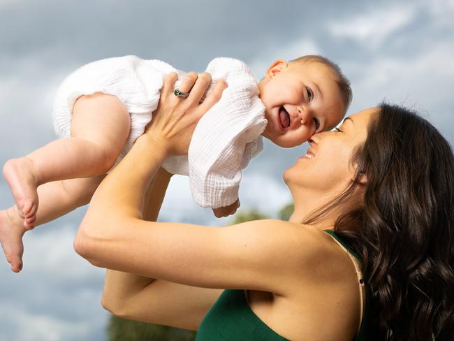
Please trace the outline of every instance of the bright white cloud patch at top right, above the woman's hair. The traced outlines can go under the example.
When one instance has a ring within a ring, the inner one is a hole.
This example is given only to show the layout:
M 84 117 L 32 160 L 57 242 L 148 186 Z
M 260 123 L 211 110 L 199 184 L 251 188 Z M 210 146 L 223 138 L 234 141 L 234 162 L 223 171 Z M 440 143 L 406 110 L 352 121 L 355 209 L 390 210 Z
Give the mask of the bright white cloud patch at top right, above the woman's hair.
M 328 31 L 332 36 L 350 38 L 375 48 L 390 34 L 413 21 L 415 15 L 416 7 L 408 4 L 393 4 L 388 8 L 373 6 L 367 13 L 328 22 Z

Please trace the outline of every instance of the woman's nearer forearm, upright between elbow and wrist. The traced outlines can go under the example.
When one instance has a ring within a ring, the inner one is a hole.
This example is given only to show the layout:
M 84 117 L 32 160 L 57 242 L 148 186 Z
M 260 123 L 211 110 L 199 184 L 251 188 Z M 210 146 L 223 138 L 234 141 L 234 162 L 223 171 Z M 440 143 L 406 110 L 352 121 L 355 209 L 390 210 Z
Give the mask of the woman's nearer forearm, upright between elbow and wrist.
M 96 266 L 112 268 L 112 263 L 100 260 L 101 250 L 114 244 L 120 248 L 129 226 L 143 220 L 145 191 L 166 157 L 166 144 L 159 139 L 143 135 L 136 140 L 91 198 L 75 237 L 78 254 Z

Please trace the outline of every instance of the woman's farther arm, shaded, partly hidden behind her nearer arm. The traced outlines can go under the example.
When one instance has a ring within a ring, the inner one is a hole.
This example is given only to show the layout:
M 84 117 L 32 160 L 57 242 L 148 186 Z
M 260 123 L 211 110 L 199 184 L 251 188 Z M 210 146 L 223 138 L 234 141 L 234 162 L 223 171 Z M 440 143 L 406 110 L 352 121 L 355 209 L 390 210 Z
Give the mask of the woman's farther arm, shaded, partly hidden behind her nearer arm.
M 145 194 L 144 220 L 156 221 L 170 177 L 163 168 L 154 176 Z M 221 292 L 107 270 L 101 303 L 120 317 L 196 331 Z

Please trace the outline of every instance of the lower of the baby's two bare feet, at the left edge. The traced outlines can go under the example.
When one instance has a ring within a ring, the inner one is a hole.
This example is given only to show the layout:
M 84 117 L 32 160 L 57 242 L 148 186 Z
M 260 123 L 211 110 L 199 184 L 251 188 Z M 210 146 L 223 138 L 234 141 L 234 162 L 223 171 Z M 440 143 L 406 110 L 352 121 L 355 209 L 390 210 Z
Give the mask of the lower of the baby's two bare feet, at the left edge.
M 23 219 L 15 211 L 14 206 L 0 211 L 0 243 L 6 260 L 11 264 L 11 270 L 18 273 L 22 270 L 22 254 L 24 254 L 22 236 L 27 228 L 22 224 Z

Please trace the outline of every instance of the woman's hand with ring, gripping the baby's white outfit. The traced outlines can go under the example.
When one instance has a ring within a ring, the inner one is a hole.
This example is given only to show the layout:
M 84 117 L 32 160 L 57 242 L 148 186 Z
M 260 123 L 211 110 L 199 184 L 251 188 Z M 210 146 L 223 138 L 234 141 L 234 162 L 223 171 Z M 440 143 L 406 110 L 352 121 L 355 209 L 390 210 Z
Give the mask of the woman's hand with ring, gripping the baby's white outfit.
M 189 92 L 184 99 L 173 94 L 177 73 L 169 73 L 163 81 L 158 108 L 153 113 L 152 122 L 145 129 L 144 138 L 159 142 L 168 156 L 187 154 L 191 136 L 196 124 L 219 99 L 227 84 L 217 81 L 212 92 L 200 103 L 211 85 L 210 73 L 188 73 L 182 80 L 180 91 Z

